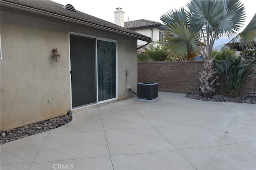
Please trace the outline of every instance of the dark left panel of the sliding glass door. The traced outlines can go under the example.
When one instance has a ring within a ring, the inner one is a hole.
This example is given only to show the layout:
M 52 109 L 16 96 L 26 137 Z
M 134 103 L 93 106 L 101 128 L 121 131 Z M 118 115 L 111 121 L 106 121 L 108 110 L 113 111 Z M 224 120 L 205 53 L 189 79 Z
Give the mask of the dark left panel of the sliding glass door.
M 70 35 L 72 107 L 96 103 L 96 39 Z

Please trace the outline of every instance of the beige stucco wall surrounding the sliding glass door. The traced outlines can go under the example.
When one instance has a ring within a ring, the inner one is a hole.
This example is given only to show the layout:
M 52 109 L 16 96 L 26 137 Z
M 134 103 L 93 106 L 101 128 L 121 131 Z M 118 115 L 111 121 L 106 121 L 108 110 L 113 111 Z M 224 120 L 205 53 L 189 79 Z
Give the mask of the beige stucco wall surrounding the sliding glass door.
M 0 28 L 1 130 L 66 115 L 71 109 L 68 32 L 117 40 L 118 100 L 133 96 L 125 90 L 125 70 L 127 85 L 136 88 L 136 39 L 4 11 Z M 56 47 L 60 62 L 52 57 Z

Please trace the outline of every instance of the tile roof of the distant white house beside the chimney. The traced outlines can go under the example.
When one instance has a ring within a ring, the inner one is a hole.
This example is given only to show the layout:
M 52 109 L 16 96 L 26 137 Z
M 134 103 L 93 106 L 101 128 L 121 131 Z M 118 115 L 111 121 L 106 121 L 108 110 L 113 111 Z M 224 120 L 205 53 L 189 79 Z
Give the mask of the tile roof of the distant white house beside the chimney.
M 147 28 L 152 26 L 160 26 L 160 22 L 150 21 L 150 20 L 135 20 L 124 22 L 124 28 L 128 28 L 130 30 L 138 29 L 138 28 Z

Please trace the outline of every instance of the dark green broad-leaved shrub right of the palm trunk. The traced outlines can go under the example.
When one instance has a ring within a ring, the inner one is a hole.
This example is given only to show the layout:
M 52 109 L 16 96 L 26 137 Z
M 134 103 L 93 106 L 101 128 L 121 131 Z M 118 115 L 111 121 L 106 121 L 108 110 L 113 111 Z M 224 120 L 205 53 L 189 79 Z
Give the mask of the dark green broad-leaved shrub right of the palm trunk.
M 220 60 L 214 60 L 214 67 L 218 75 L 220 75 L 225 84 L 225 92 L 229 97 L 237 97 L 238 91 L 242 85 L 244 79 L 250 75 L 253 75 L 254 70 L 251 67 L 256 65 L 256 60 L 248 60 L 244 62 L 241 56 L 238 58 L 228 55 L 226 60 L 220 58 Z

